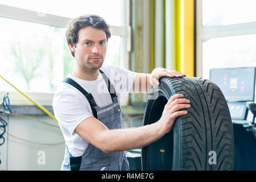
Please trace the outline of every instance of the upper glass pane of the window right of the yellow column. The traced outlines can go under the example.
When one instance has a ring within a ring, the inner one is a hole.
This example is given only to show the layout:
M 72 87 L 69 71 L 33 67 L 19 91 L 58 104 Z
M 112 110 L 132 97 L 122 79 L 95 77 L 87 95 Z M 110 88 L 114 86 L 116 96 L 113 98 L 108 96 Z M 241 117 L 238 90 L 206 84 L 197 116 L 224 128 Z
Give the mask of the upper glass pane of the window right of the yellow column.
M 202 0 L 202 26 L 256 21 L 255 0 Z

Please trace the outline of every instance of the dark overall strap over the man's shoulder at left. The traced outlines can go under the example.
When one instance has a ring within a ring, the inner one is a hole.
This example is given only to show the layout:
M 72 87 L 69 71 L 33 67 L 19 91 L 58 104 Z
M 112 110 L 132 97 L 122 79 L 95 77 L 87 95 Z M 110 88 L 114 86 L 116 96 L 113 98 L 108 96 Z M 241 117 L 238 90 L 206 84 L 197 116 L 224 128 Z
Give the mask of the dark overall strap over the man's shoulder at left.
M 96 102 L 94 100 L 94 97 L 92 97 L 92 94 L 91 93 L 88 93 L 86 92 L 86 90 L 84 90 L 82 88 L 82 86 L 80 86 L 77 82 L 75 82 L 74 80 L 72 80 L 71 78 L 69 77 L 66 77 L 63 82 L 66 82 L 67 84 L 70 84 L 72 86 L 74 86 L 76 89 L 78 89 L 80 92 L 82 92 L 82 94 L 87 98 L 90 106 L 91 106 L 91 109 L 92 109 L 92 113 L 94 114 L 94 117 L 97 118 L 97 111 L 95 109 L 95 106 L 96 105 Z

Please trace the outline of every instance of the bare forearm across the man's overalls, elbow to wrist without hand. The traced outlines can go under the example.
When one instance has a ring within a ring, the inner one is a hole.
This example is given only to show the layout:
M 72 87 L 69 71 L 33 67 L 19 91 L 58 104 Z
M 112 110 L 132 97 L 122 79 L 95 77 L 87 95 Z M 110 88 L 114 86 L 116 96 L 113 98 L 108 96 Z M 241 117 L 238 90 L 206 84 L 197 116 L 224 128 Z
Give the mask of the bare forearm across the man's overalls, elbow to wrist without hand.
M 128 129 L 108 130 L 101 133 L 104 152 L 125 151 L 147 146 L 162 137 L 158 123 Z

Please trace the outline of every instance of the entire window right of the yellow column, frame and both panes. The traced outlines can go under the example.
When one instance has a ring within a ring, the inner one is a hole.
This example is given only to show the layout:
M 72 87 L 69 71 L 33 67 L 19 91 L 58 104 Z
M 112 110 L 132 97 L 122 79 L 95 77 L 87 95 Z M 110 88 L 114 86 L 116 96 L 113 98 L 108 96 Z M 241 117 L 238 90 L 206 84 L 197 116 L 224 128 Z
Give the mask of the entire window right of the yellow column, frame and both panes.
M 197 76 L 211 68 L 256 67 L 255 0 L 197 3 Z

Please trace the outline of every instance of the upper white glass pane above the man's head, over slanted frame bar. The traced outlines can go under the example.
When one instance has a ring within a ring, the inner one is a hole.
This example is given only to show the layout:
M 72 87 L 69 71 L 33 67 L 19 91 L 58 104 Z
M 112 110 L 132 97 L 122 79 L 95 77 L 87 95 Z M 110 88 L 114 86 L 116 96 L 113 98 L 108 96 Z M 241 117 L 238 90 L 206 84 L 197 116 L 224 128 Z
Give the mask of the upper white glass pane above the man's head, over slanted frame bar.
M 67 18 L 75 18 L 83 14 L 97 14 L 113 26 L 121 26 L 120 0 L 0 0 L 0 4 Z

